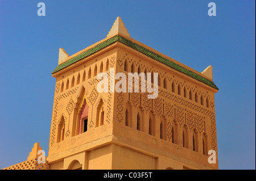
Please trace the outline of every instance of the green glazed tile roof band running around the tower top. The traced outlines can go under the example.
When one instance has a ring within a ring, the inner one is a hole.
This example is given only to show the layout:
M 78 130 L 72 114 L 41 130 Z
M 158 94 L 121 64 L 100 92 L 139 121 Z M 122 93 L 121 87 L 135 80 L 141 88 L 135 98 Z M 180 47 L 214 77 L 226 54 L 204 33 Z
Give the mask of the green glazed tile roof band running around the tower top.
M 77 62 L 79 60 L 81 60 L 82 58 L 88 57 L 91 54 L 96 53 L 98 50 L 101 50 L 102 48 L 108 47 L 110 44 L 113 44 L 113 43 L 115 43 L 117 41 L 119 41 L 122 44 L 127 45 L 128 47 L 131 47 L 131 48 L 137 50 L 138 52 L 141 52 L 141 53 L 145 54 L 148 57 L 153 58 L 154 60 L 157 60 L 157 61 L 162 62 L 163 64 L 165 64 L 167 66 L 170 66 L 170 68 L 172 68 L 172 69 L 180 71 L 181 73 L 184 73 L 184 74 L 188 75 L 189 77 L 195 78 L 198 81 L 203 82 L 206 85 L 208 85 L 210 87 L 213 87 L 214 89 L 218 90 L 218 87 L 212 81 L 209 81 L 207 78 L 204 78 L 204 77 L 202 77 L 199 74 L 193 73 L 193 71 L 185 69 L 182 66 L 177 65 L 174 62 L 171 62 L 170 60 L 167 60 L 166 58 L 160 56 L 159 54 L 151 52 L 150 50 L 142 47 L 141 45 L 133 43 L 132 41 L 127 40 L 125 37 L 122 37 L 120 35 L 116 35 L 116 36 L 114 36 L 114 37 L 112 37 L 112 38 L 110 38 L 110 39 L 108 39 L 108 40 L 106 40 L 106 41 L 96 45 L 95 47 L 93 47 L 93 48 L 91 48 L 89 50 L 86 50 L 85 52 L 77 55 L 76 57 L 71 58 L 70 60 L 64 62 L 63 64 L 60 64 L 59 66 L 57 66 L 52 71 L 52 73 L 55 73 L 55 72 L 57 72 L 57 71 L 59 71 L 61 69 L 64 69 L 67 66 L 69 66 L 69 65 L 71 65 L 71 64 L 73 64 L 73 63 L 75 63 L 75 62 Z

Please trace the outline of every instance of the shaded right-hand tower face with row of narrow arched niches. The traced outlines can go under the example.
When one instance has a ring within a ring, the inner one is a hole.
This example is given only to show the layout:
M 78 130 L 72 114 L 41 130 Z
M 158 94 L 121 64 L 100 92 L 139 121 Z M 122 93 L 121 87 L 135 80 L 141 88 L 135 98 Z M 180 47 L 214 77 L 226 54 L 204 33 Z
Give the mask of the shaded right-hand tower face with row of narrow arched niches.
M 115 94 L 113 134 L 122 137 L 117 140 L 155 155 L 179 161 L 186 158 L 195 165 L 218 168 L 217 163 L 208 163 L 208 150 L 217 152 L 215 90 L 123 48 L 118 49 L 117 72 L 125 73 L 126 77 L 128 73 L 141 72 L 159 76 L 156 99 L 148 99 L 147 89 L 141 92 L 142 78 L 139 78 L 139 92 Z M 146 86 L 147 81 L 146 78 Z M 134 83 L 135 79 L 133 90 Z

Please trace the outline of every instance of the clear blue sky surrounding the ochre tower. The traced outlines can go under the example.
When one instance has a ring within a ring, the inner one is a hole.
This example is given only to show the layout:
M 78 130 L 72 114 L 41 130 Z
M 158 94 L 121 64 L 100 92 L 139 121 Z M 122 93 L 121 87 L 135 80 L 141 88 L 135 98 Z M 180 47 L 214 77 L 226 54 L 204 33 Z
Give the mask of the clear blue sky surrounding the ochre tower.
M 197 71 L 213 66 L 219 168 L 255 169 L 254 0 L 0 0 L 0 169 L 26 161 L 35 142 L 48 153 L 59 48 L 104 39 L 117 16 L 149 47 Z

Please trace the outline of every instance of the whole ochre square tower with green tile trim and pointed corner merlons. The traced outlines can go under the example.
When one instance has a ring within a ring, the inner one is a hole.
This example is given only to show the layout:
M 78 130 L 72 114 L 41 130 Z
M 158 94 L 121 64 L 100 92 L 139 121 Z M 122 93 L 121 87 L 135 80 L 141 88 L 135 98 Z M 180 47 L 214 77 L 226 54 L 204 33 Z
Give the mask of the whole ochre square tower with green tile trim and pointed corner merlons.
M 112 91 L 117 73 L 158 73 L 157 98 Z M 72 56 L 60 48 L 52 76 L 50 169 L 218 169 L 208 163 L 208 150 L 217 153 L 212 66 L 200 73 L 147 47 L 118 17 L 104 40 Z

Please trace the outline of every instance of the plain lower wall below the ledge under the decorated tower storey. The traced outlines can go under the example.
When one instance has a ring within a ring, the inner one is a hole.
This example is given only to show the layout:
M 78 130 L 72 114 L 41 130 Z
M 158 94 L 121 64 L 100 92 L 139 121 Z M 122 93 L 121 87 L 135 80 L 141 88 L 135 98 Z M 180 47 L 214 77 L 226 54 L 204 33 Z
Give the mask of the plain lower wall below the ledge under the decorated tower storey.
M 196 169 L 184 166 L 165 157 L 156 157 L 116 144 L 82 151 L 59 161 L 49 163 L 51 170 L 183 170 Z

